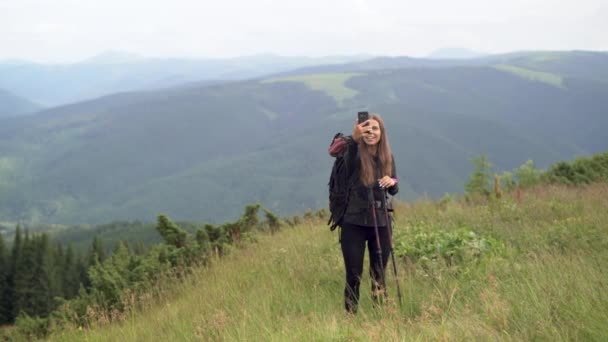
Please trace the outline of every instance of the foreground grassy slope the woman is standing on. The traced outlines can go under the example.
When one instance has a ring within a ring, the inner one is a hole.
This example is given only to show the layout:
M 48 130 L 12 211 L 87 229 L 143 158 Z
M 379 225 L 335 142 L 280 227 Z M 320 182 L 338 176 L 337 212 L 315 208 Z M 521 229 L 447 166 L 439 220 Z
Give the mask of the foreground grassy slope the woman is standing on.
M 432 275 L 400 264 L 405 305 L 342 310 L 337 235 L 305 223 L 175 283 L 174 295 L 121 322 L 55 340 L 605 340 L 608 329 L 608 185 L 538 188 L 469 206 L 419 202 L 399 208 L 397 231 L 466 227 L 504 249 L 459 271 Z M 364 275 L 364 284 L 368 284 Z M 102 319 L 103 321 L 103 319 Z

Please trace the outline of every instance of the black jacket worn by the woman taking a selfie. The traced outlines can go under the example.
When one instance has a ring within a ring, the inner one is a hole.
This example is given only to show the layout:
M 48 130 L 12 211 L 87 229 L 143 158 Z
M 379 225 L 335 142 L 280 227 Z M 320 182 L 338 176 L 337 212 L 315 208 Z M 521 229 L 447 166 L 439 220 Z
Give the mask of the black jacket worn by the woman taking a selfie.
M 356 224 L 359 226 L 373 227 L 374 219 L 369 201 L 369 188 L 366 187 L 361 181 L 361 158 L 359 156 L 358 145 L 352 139 L 349 140 L 349 144 L 347 146 L 345 161 L 348 163 L 349 179 L 351 180 L 352 186 L 350 188 L 348 206 L 346 208 L 346 213 L 344 214 L 343 222 Z M 376 165 L 377 164 L 378 163 L 376 163 Z M 376 169 L 376 174 L 376 178 L 385 176 L 380 174 L 380 170 L 378 170 L 378 168 Z M 394 157 L 392 175 L 390 176 L 397 178 Z M 394 186 L 386 189 L 386 192 L 388 197 L 386 201 L 388 204 L 388 209 L 392 210 L 392 196 L 399 192 L 399 185 L 395 184 Z M 384 207 L 381 206 L 384 192 L 376 184 L 374 186 L 373 193 L 376 201 L 376 219 L 378 226 L 386 226 L 386 215 L 384 212 Z

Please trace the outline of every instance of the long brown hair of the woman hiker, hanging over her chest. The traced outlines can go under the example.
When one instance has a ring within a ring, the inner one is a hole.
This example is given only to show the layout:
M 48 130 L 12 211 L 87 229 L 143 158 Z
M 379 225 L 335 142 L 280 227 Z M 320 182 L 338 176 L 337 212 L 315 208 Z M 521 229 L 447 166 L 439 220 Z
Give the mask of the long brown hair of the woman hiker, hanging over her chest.
M 378 142 L 378 149 L 376 150 L 376 155 L 380 162 L 378 169 L 382 173 L 380 176 L 384 177 L 388 175 L 393 177 L 393 154 L 391 153 L 391 146 L 388 143 L 388 135 L 384 129 L 384 120 L 382 120 L 378 114 L 371 114 L 369 118 L 370 120 L 378 121 L 378 124 L 380 125 L 381 135 L 380 141 Z M 359 156 L 361 157 L 361 182 L 363 182 L 365 186 L 372 186 L 377 181 L 374 172 L 374 155 L 369 151 L 368 146 L 363 139 L 359 140 L 358 144 Z

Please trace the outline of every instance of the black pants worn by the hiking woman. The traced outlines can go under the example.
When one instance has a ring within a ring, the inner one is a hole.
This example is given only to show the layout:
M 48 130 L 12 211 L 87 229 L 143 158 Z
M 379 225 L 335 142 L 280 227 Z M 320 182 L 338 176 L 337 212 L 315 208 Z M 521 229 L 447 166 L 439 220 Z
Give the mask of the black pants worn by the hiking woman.
M 359 303 L 359 285 L 363 274 L 365 244 L 369 250 L 369 270 L 372 279 L 372 299 L 375 303 L 386 296 L 386 284 L 383 275 L 390 255 L 390 239 L 386 227 L 378 227 L 382 249 L 382 267 L 378 258 L 376 234 L 373 227 L 363 227 L 343 223 L 340 245 L 346 269 L 346 287 L 344 288 L 344 307 L 346 311 L 357 312 Z

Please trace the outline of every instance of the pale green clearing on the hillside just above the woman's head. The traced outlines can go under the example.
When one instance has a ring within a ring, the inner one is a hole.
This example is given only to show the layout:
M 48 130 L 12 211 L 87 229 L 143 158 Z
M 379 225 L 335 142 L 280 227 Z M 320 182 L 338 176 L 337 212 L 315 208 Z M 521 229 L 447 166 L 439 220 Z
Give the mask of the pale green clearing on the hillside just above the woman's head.
M 343 101 L 354 97 L 358 91 L 348 88 L 344 85 L 348 79 L 357 76 L 356 73 L 341 73 L 341 74 L 313 74 L 305 76 L 291 76 L 282 78 L 273 78 L 263 81 L 263 83 L 273 82 L 302 82 L 312 90 L 318 90 L 333 97 L 339 105 Z

